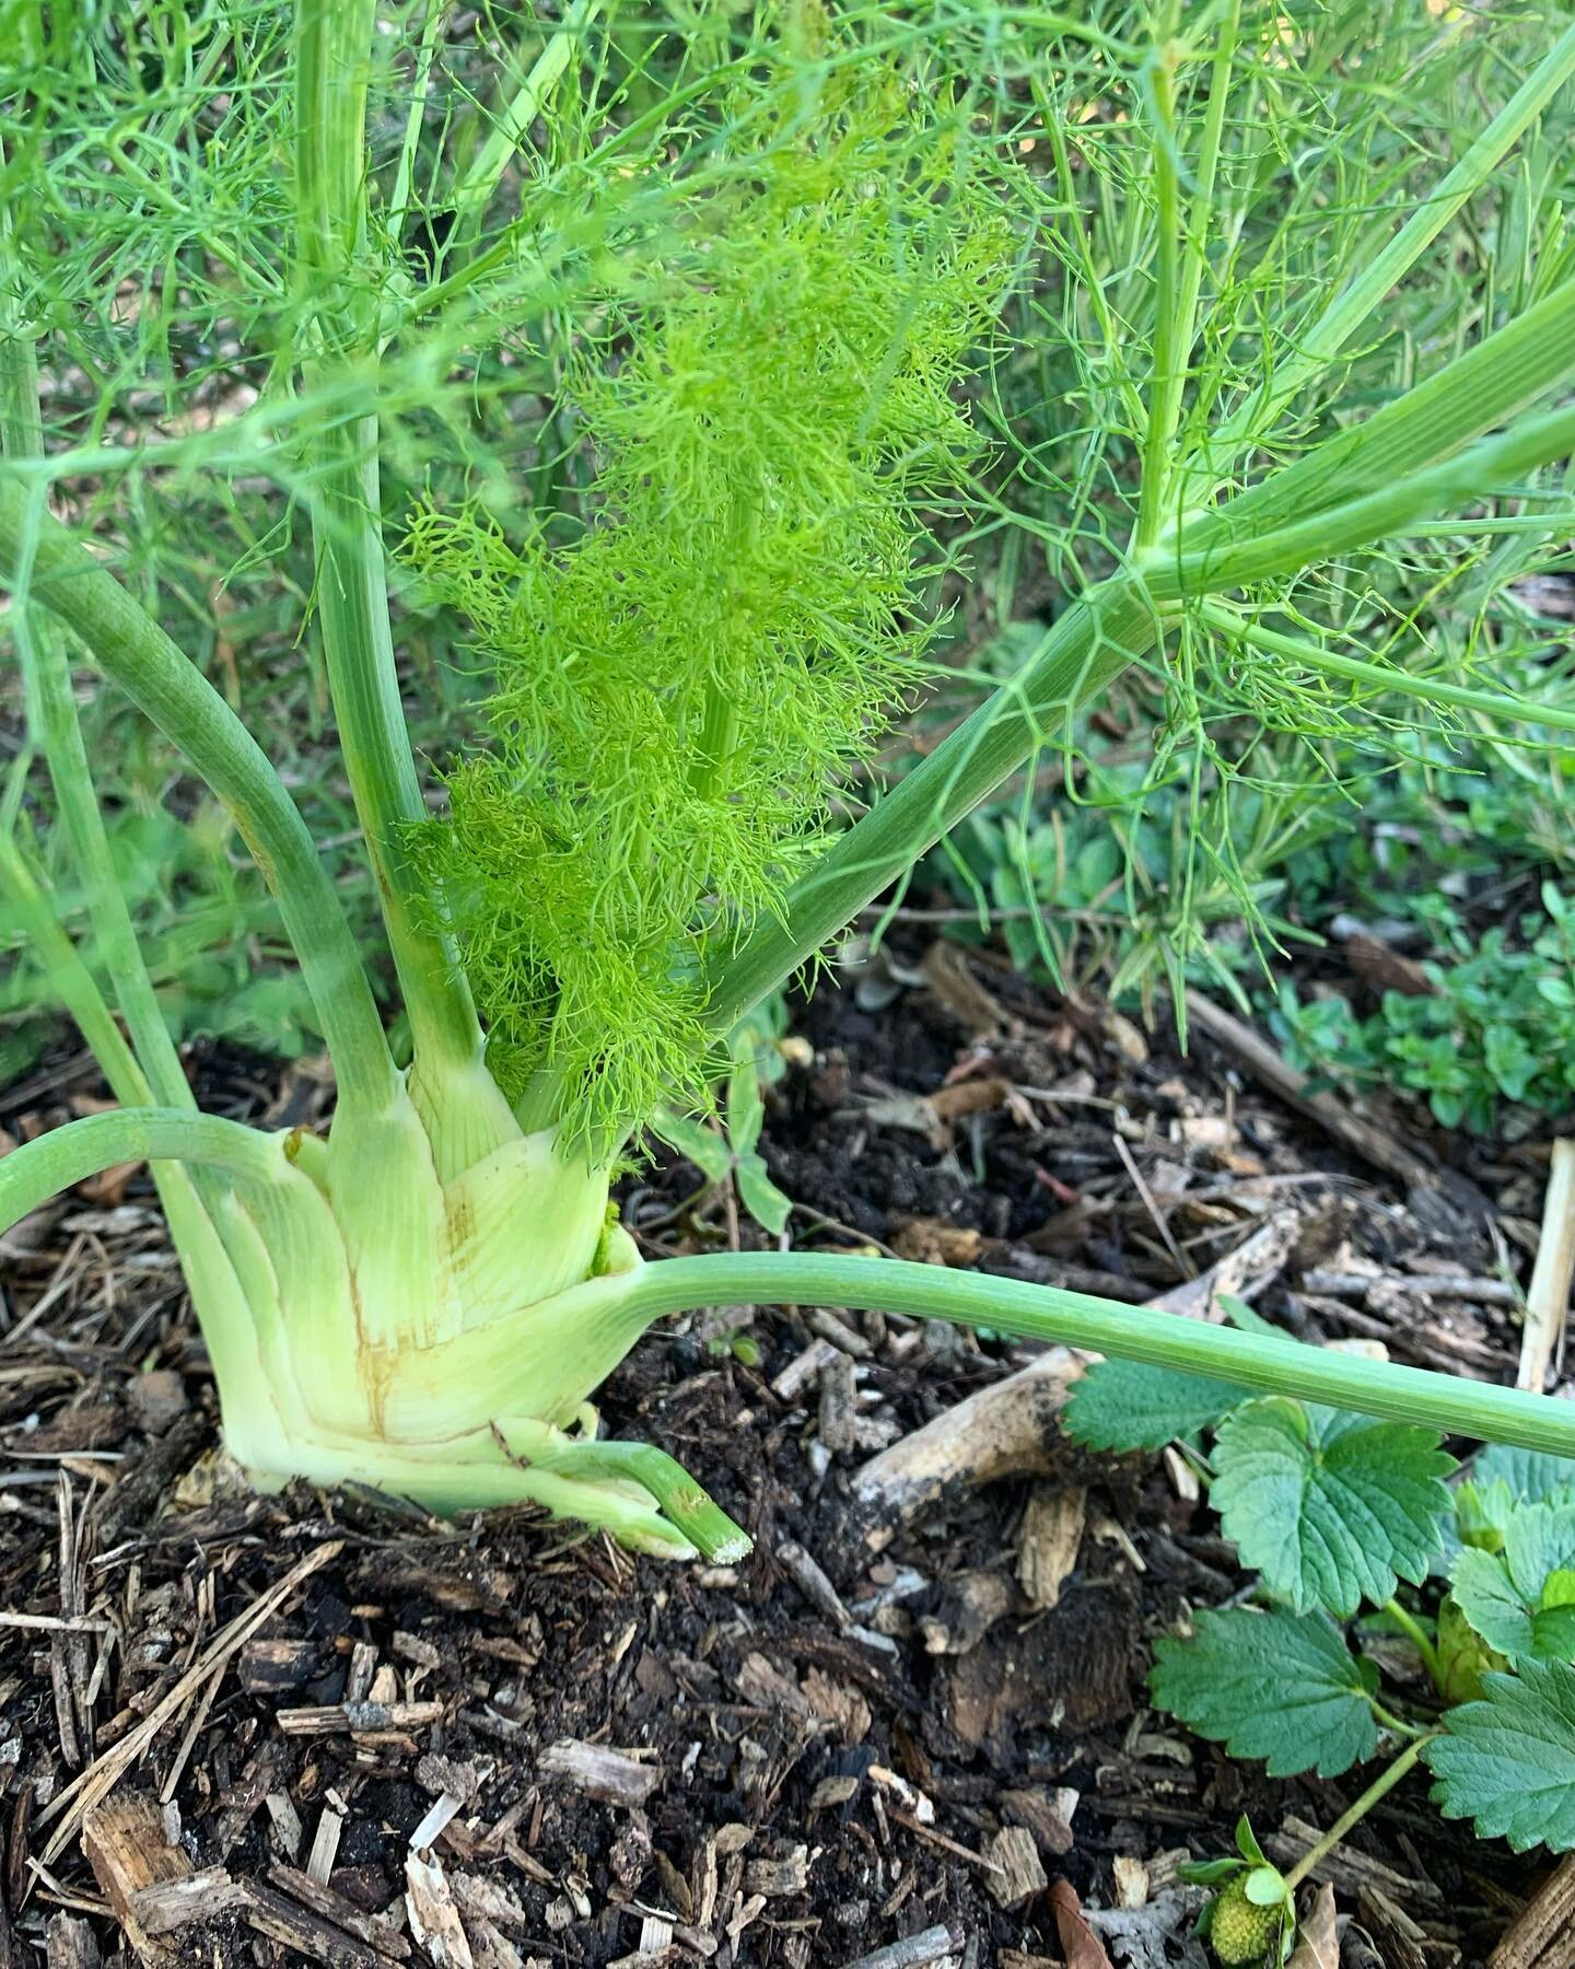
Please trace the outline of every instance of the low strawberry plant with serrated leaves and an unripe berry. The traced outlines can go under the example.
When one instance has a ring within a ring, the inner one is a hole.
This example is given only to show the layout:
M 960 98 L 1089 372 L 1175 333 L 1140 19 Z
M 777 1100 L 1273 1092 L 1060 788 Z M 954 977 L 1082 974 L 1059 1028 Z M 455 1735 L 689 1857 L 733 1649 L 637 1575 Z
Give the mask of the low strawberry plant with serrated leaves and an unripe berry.
M 1065 1422 L 1093 1449 L 1177 1443 L 1256 1573 L 1250 1605 L 1156 1642 L 1156 1707 L 1272 1778 L 1382 1760 L 1288 1873 L 1246 1821 L 1236 1855 L 1191 1871 L 1219 1888 L 1223 1963 L 1290 1953 L 1299 1882 L 1418 1762 L 1445 1817 L 1575 1847 L 1575 1461 L 1488 1447 L 1461 1471 L 1437 1429 L 1124 1361 L 1087 1370 Z M 1404 1680 L 1378 1662 L 1396 1640 Z

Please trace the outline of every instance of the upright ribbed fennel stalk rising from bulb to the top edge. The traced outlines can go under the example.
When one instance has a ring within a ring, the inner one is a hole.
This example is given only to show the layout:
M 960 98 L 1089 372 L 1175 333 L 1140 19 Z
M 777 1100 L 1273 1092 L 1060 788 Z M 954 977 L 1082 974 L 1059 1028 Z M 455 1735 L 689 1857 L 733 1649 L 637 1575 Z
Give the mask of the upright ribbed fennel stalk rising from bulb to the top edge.
M 366 240 L 374 20 L 372 0 L 299 0 L 295 10 L 295 272 L 307 309 L 307 388 L 331 384 L 376 349 L 378 282 Z M 307 469 L 339 744 L 410 1014 L 415 1077 L 433 1087 L 471 1069 L 482 1040 L 439 904 L 406 841 L 427 809 L 394 662 L 376 417 L 325 417 L 307 439 Z

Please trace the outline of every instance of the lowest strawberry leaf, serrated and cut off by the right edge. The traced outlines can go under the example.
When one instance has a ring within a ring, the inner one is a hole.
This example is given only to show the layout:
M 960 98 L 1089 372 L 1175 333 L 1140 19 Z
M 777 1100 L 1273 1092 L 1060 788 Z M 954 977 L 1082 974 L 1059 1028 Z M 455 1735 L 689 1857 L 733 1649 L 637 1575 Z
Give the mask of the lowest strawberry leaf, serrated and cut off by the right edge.
M 1423 1756 L 1447 1819 L 1473 1819 L 1516 1853 L 1575 1845 L 1575 1668 L 1522 1662 L 1518 1676 L 1484 1676 L 1482 1699 L 1447 1711 L 1445 1731 Z

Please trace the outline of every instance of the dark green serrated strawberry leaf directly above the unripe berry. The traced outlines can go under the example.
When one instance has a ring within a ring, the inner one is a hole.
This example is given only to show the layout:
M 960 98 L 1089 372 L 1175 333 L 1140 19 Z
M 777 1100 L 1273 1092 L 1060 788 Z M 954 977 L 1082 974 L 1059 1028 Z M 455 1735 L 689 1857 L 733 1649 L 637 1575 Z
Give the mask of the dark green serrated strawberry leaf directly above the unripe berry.
M 1376 1682 L 1323 1615 L 1250 1607 L 1201 1613 L 1191 1640 L 1162 1636 L 1148 1678 L 1162 1709 L 1230 1756 L 1264 1758 L 1270 1778 L 1335 1778 L 1372 1756 Z

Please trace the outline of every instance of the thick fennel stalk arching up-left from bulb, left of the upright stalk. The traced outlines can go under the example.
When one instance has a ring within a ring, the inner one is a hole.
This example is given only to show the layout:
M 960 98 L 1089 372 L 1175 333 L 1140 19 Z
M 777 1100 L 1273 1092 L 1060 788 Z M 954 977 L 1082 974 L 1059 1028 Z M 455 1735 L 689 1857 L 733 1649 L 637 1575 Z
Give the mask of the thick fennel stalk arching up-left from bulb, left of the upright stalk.
M 49 516 L 45 478 L 0 478 L 0 569 L 32 569 L 32 597 L 185 754 L 232 813 L 274 890 L 323 1038 L 341 1107 L 386 1107 L 398 1073 L 350 925 L 307 825 L 240 719 L 120 583 Z

